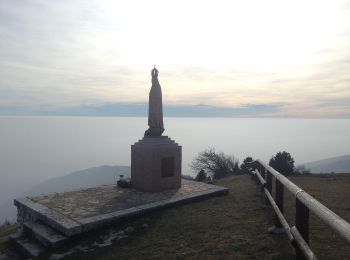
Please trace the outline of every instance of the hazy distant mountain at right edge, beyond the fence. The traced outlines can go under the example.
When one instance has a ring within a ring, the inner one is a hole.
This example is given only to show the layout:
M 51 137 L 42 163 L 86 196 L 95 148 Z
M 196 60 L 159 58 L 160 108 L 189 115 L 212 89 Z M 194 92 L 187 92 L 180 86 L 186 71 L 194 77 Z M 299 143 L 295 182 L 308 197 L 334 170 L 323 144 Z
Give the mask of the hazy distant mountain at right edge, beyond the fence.
M 338 156 L 303 164 L 311 173 L 350 173 L 350 155 Z

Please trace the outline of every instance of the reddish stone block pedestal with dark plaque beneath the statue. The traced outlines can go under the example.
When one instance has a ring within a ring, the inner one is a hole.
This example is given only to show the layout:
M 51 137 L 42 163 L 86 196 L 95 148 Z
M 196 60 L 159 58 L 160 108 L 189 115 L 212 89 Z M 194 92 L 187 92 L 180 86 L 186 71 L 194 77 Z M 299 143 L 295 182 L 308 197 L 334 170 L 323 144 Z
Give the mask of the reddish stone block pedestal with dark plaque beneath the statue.
M 157 192 L 181 187 L 182 148 L 167 136 L 144 137 L 131 146 L 131 184 Z

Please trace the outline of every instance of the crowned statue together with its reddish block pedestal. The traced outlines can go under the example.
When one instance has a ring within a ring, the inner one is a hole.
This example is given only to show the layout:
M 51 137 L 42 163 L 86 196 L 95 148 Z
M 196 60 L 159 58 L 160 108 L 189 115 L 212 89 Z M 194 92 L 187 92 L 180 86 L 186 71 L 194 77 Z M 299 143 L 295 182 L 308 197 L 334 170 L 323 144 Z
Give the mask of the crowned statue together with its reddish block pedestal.
M 148 105 L 149 128 L 144 137 L 131 146 L 131 184 L 135 189 L 148 192 L 181 187 L 182 148 L 168 136 L 162 136 L 163 104 L 158 74 L 154 67 Z

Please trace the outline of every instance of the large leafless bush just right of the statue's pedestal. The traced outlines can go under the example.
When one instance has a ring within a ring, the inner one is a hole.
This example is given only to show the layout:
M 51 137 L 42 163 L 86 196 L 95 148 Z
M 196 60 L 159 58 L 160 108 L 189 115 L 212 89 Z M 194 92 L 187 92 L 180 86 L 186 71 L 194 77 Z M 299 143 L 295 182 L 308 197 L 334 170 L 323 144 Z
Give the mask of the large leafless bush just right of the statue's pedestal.
M 239 174 L 238 161 L 231 155 L 216 153 L 214 148 L 200 152 L 190 167 L 194 171 L 206 171 L 212 179 Z

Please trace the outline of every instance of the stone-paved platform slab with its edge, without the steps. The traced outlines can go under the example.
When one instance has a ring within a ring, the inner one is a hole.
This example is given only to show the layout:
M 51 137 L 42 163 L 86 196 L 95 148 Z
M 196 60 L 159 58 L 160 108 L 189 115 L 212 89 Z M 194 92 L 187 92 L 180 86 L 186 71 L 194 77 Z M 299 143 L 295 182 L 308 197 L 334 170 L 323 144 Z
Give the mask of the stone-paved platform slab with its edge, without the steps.
M 228 189 L 182 180 L 180 189 L 157 193 L 119 188 L 115 184 L 15 200 L 18 222 L 41 222 L 59 234 L 72 237 L 131 216 L 227 194 Z

